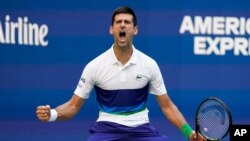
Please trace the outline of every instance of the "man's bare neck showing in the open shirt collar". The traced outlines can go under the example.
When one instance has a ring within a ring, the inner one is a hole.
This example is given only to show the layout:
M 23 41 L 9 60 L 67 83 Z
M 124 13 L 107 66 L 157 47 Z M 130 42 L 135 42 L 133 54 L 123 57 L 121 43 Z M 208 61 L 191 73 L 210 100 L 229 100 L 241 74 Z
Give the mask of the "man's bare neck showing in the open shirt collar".
M 132 45 L 124 47 L 114 45 L 113 49 L 117 60 L 119 60 L 123 65 L 128 62 L 133 53 Z

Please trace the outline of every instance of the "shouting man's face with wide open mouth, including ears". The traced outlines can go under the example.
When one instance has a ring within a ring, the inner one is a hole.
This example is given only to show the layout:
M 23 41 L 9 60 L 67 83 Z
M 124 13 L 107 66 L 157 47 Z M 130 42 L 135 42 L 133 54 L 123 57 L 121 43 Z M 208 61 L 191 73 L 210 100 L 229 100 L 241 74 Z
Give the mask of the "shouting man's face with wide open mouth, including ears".
M 131 46 L 137 31 L 137 27 L 133 24 L 133 16 L 130 14 L 117 14 L 110 27 L 110 34 L 114 36 L 115 45 L 119 47 Z

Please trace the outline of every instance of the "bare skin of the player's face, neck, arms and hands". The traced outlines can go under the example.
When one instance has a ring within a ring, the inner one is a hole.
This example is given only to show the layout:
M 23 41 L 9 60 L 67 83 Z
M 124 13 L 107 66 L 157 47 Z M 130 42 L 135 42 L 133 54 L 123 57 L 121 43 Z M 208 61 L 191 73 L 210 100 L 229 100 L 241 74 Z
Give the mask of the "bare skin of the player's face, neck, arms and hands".
M 125 65 L 130 59 L 133 48 L 133 37 L 138 33 L 138 27 L 133 24 L 133 16 L 130 14 L 117 14 L 109 32 L 114 37 L 114 52 L 117 59 Z M 121 37 L 120 33 L 125 32 Z M 156 100 L 166 118 L 169 119 L 177 128 L 181 128 L 186 122 L 185 118 L 178 110 L 176 105 L 171 101 L 167 94 L 155 96 Z M 66 103 L 57 106 L 55 109 L 58 113 L 57 120 L 67 120 L 76 115 L 84 105 L 85 99 L 73 94 L 71 99 Z M 38 106 L 36 115 L 39 120 L 47 122 L 50 118 L 50 106 Z M 193 131 L 189 137 L 190 141 L 204 141 L 205 139 Z

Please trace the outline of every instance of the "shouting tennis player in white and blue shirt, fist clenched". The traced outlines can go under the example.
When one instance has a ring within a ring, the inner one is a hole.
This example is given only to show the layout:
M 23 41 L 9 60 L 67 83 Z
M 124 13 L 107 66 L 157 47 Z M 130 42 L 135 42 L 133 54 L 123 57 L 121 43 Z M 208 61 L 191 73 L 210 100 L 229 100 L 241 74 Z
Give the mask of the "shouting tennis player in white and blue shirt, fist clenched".
M 138 33 L 134 11 L 129 7 L 115 9 L 109 32 L 114 44 L 86 65 L 71 99 L 55 109 L 38 106 L 38 119 L 72 118 L 95 89 L 100 112 L 89 129 L 88 141 L 167 141 L 168 137 L 149 122 L 147 97 L 151 93 L 163 114 L 189 140 L 195 140 L 196 133 L 167 94 L 157 63 L 133 45 Z M 201 135 L 198 139 L 204 140 Z

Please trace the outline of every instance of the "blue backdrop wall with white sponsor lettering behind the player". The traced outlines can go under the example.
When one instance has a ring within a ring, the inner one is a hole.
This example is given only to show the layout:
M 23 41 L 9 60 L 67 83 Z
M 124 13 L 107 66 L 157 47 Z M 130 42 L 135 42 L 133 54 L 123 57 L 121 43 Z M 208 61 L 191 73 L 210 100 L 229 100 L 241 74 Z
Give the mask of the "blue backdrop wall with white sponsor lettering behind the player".
M 113 43 L 111 15 L 122 5 L 137 13 L 135 46 L 158 62 L 192 127 L 196 107 L 209 96 L 227 103 L 234 124 L 250 124 L 247 0 L 1 0 L 1 141 L 86 140 L 98 114 L 95 93 L 67 122 L 39 122 L 36 106 L 55 107 L 72 96 L 84 66 Z M 148 107 L 162 134 L 185 140 L 153 96 Z

